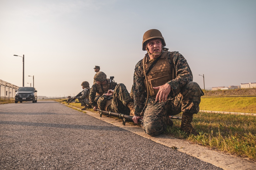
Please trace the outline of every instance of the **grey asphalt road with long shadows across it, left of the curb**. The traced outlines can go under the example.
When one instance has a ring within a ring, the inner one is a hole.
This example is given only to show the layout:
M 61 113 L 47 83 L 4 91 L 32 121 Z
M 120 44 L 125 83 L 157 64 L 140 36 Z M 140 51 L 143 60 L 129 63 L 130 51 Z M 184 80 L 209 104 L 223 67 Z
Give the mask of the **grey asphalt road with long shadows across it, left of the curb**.
M 0 105 L 0 169 L 221 169 L 55 101 Z

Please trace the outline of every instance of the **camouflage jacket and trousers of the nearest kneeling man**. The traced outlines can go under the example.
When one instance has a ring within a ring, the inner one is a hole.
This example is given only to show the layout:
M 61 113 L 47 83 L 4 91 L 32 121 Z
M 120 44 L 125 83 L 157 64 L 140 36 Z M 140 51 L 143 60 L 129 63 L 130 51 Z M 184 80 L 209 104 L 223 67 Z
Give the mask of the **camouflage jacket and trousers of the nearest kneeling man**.
M 146 56 L 147 62 L 149 62 L 148 54 Z M 176 51 L 169 52 L 167 60 L 171 68 L 175 69 L 177 76 L 175 79 L 166 82 L 171 87 L 167 101 L 159 103 L 159 101 L 155 101 L 155 97 L 149 96 L 148 98 L 142 119 L 142 128 L 150 136 L 158 135 L 166 129 L 166 115 L 176 115 L 183 112 L 183 115 L 191 116 L 198 113 L 200 97 L 204 94 L 199 85 L 192 82 L 192 72 L 186 59 L 180 53 Z M 141 62 L 142 60 L 136 64 L 133 77 L 134 114 L 136 116 L 140 116 L 147 98 L 144 85 L 145 76 L 140 68 Z

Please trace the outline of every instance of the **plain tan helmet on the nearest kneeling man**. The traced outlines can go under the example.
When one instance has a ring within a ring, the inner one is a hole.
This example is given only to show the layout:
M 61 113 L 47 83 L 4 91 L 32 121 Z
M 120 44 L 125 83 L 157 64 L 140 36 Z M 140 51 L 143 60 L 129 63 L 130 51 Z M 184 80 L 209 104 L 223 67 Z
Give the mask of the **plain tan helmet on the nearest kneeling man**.
M 142 50 L 146 51 L 146 49 L 144 49 L 144 46 L 146 45 L 146 41 L 153 39 L 153 38 L 160 38 L 163 47 L 166 46 L 165 41 L 164 41 L 164 37 L 162 36 L 161 32 L 159 30 L 156 29 L 152 29 L 152 30 L 148 30 L 144 33 L 143 35 L 143 41 L 142 41 Z

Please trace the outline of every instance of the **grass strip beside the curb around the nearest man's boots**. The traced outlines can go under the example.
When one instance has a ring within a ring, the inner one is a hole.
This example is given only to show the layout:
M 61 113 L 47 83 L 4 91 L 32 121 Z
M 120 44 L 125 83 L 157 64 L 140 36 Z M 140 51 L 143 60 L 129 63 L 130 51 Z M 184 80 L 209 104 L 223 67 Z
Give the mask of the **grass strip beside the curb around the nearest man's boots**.
M 192 122 L 198 136 L 187 136 L 179 130 L 181 121 L 173 121 L 165 134 L 256 161 L 256 116 L 199 112 Z

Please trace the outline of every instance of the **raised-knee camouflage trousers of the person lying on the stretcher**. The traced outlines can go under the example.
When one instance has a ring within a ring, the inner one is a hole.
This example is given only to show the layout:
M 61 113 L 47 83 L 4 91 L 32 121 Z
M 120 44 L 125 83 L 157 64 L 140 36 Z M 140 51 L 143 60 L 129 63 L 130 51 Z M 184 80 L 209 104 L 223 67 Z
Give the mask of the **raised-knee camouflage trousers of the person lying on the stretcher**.
M 116 85 L 111 102 L 112 112 L 130 115 L 130 109 L 127 107 L 127 104 L 130 102 L 132 102 L 132 99 L 125 85 L 122 83 Z

